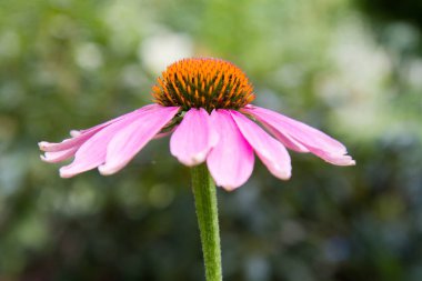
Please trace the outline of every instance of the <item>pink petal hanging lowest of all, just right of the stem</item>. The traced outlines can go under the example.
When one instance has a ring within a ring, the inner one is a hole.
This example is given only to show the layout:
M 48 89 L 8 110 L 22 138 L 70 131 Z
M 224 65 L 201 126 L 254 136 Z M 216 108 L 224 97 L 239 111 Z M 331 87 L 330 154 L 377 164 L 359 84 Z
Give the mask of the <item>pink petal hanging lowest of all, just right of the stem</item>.
M 211 113 L 212 127 L 219 134 L 219 141 L 211 149 L 207 164 L 218 185 L 233 190 L 242 185 L 253 170 L 253 150 L 239 131 L 227 110 Z

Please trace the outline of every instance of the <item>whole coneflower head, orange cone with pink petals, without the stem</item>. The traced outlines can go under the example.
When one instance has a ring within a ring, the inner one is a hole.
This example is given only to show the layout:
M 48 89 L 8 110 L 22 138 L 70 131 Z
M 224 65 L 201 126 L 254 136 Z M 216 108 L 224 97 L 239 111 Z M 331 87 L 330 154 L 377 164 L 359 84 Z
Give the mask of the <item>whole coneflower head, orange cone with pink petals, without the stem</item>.
M 181 163 L 207 162 L 218 185 L 233 190 L 251 175 L 254 154 L 277 178 L 291 177 L 287 148 L 311 152 L 336 165 L 352 165 L 345 147 L 325 133 L 269 109 L 252 106 L 252 84 L 234 64 L 212 58 L 180 60 L 152 88 L 153 104 L 87 130 L 60 143 L 40 142 L 46 162 L 74 157 L 62 178 L 98 168 L 121 170 L 152 139 L 171 134 Z

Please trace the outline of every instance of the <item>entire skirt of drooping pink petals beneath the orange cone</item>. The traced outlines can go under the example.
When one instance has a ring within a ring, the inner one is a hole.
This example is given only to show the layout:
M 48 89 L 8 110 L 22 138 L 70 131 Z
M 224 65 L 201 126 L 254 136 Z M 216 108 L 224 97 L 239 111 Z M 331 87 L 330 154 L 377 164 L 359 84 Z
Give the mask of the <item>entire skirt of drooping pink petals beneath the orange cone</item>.
M 62 178 L 71 178 L 98 168 L 112 174 L 152 139 L 161 136 L 180 112 L 179 107 L 149 104 L 87 130 L 71 131 L 60 143 L 42 141 L 46 162 L 74 160 L 60 169 Z M 251 120 L 254 119 L 257 122 Z M 225 190 L 242 185 L 250 178 L 254 153 L 277 178 L 291 177 L 288 149 L 310 152 L 336 165 L 353 165 L 345 147 L 328 134 L 269 109 L 247 106 L 239 111 L 189 109 L 171 130 L 170 152 L 182 164 L 205 162 L 215 183 Z

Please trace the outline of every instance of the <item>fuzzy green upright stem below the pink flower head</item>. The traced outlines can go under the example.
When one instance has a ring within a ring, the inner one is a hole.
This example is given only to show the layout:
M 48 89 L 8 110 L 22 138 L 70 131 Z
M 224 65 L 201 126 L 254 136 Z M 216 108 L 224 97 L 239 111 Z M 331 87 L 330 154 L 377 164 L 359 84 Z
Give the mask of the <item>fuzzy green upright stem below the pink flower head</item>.
M 193 167 L 191 171 L 207 281 L 221 281 L 220 231 L 215 184 L 205 164 Z

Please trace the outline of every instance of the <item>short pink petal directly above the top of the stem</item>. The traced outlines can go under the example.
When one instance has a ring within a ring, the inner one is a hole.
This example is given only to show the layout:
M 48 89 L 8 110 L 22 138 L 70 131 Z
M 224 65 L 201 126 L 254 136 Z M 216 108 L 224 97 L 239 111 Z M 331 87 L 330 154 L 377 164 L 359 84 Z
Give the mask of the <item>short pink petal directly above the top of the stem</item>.
M 195 165 L 205 161 L 208 152 L 215 145 L 217 132 L 204 109 L 190 109 L 170 140 L 170 151 L 181 163 Z

